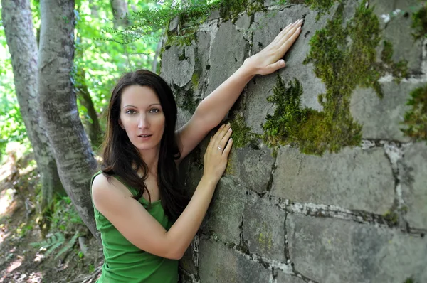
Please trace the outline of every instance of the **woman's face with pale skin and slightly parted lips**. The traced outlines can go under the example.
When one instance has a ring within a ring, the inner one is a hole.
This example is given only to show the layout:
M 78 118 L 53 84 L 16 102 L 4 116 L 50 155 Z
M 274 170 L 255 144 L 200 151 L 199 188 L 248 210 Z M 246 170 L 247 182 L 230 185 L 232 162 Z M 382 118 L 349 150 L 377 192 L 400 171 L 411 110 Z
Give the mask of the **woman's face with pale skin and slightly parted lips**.
M 147 86 L 126 87 L 122 91 L 119 124 L 140 153 L 158 149 L 164 132 L 164 113 L 156 92 Z

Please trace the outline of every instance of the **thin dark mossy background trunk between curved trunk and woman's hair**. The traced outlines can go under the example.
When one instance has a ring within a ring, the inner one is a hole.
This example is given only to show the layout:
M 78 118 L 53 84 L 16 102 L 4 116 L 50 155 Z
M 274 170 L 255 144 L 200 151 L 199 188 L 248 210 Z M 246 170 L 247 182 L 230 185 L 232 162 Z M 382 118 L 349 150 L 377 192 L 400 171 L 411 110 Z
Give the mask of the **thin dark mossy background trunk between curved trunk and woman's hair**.
M 80 100 L 81 105 L 83 105 L 88 112 L 89 119 L 85 119 L 85 128 L 89 135 L 90 144 L 97 148 L 102 142 L 100 121 L 97 117 L 92 97 L 90 97 L 88 85 L 86 85 L 85 70 L 81 68 L 78 69 L 76 74 L 75 89 L 77 91 L 77 97 Z

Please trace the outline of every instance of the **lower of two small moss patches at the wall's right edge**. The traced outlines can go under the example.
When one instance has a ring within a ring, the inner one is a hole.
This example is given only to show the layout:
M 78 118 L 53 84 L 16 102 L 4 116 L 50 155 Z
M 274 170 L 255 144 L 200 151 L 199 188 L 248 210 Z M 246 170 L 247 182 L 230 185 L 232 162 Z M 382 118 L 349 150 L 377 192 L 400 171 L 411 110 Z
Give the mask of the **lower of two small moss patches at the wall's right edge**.
M 413 90 L 406 105 L 411 106 L 411 110 L 405 113 L 407 128 L 402 131 L 415 141 L 427 141 L 427 85 Z

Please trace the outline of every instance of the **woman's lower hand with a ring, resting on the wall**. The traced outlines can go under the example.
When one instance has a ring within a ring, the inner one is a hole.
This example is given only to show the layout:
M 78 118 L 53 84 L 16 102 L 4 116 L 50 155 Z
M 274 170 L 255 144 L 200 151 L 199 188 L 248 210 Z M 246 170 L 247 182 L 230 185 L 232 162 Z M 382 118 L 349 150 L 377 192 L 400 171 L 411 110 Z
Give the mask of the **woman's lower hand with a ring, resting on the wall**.
M 204 155 L 204 177 L 219 181 L 226 170 L 228 154 L 233 146 L 230 123 L 223 124 L 214 137 L 211 137 Z

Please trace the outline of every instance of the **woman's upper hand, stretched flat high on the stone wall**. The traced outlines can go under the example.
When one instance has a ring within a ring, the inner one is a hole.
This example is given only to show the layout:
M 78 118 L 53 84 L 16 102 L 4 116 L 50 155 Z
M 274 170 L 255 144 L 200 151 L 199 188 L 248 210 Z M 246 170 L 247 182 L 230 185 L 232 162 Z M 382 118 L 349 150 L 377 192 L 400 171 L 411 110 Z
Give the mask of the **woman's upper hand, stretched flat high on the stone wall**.
M 282 58 L 300 35 L 302 22 L 300 19 L 290 23 L 267 47 L 246 59 L 243 65 L 253 70 L 253 75 L 268 75 L 285 67 Z

